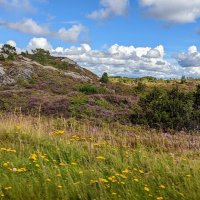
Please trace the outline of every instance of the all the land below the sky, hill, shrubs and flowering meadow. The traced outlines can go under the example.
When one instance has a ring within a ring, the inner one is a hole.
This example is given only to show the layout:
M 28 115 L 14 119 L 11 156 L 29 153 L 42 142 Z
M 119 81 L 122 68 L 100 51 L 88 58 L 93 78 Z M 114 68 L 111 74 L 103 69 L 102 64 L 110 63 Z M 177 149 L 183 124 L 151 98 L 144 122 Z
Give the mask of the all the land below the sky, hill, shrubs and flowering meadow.
M 200 199 L 200 79 L 1 52 L 0 199 Z

